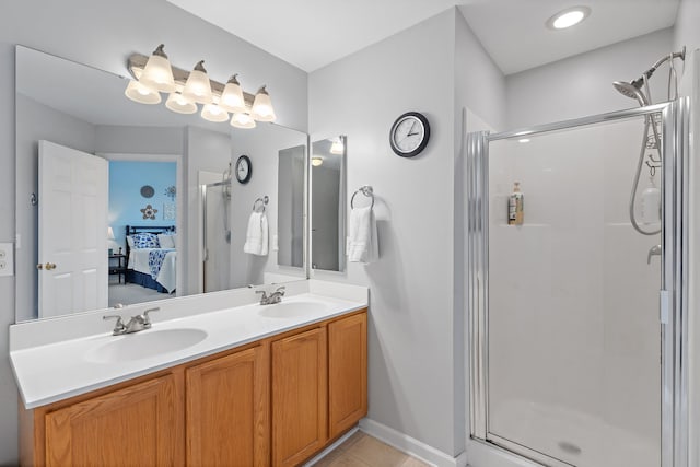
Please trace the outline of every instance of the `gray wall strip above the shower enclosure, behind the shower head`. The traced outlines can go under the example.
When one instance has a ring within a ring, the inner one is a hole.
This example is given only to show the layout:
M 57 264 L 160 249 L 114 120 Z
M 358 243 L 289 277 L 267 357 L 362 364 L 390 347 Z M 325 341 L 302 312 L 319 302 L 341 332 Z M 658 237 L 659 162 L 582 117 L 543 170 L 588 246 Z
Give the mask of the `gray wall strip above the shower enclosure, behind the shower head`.
M 638 106 L 612 81 L 639 78 L 670 51 L 672 39 L 673 31 L 662 30 L 509 75 L 508 129 Z M 650 81 L 654 102 L 666 100 L 666 70 Z

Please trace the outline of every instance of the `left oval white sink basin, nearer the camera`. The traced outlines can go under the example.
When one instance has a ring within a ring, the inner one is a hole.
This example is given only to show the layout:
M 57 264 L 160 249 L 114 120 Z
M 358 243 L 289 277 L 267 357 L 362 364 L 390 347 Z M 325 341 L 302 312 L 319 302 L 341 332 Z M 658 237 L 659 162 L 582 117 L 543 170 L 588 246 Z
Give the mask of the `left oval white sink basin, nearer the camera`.
M 207 332 L 201 329 L 163 329 L 115 336 L 114 340 L 91 349 L 85 359 L 96 363 L 116 363 L 148 359 L 175 352 L 201 342 Z

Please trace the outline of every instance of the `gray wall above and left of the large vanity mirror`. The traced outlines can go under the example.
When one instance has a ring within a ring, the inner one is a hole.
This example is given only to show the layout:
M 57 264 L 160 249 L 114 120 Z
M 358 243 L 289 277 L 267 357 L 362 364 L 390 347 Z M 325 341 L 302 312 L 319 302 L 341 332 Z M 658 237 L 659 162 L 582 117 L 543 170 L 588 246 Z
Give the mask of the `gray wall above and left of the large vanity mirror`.
M 306 129 L 305 72 L 165 0 L 10 2 L 0 15 L 0 102 L 5 103 L 0 112 L 0 241 L 13 241 L 15 232 L 14 45 L 127 74 L 125 63 L 131 52 L 149 54 L 160 43 L 180 68 L 206 59 L 218 81 L 240 72 L 249 92 L 267 83 L 279 121 Z M 7 357 L 14 287 L 14 278 L 0 278 L 0 465 L 14 464 L 18 453 L 16 388 Z

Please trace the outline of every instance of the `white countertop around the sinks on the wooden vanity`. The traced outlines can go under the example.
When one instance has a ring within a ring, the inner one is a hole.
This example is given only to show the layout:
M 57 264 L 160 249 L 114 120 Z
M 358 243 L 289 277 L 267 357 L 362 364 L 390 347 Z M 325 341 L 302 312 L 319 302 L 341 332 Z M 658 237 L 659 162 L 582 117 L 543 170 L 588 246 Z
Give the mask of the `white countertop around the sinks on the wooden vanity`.
M 337 288 L 334 284 L 329 291 Z M 168 311 L 166 305 L 161 305 L 158 313 L 161 320 L 156 322 L 156 315 L 152 315 L 153 327 L 140 332 L 113 336 L 108 329 L 114 323 L 109 322 L 104 323 L 107 329 L 101 334 L 31 347 L 16 345 L 14 350 L 10 349 L 10 360 L 20 394 L 27 409 L 44 406 L 368 306 L 366 289 L 364 299 L 362 293 L 339 299 L 313 293 L 314 289 L 317 288 L 311 287 L 311 292 L 285 296 L 282 301 L 282 305 L 299 303 L 301 307 L 313 304 L 307 306 L 310 312 L 301 316 L 293 316 L 294 313 L 288 316 L 284 307 L 275 310 L 279 305 L 247 304 L 164 319 Z M 266 316 L 270 312 L 276 316 Z M 101 315 L 91 318 L 102 320 Z M 116 340 L 138 337 L 145 342 L 149 334 L 172 329 L 198 329 L 206 332 L 206 337 L 192 346 L 153 357 L 109 362 L 94 358 L 96 351 Z M 26 329 L 22 332 L 28 334 Z

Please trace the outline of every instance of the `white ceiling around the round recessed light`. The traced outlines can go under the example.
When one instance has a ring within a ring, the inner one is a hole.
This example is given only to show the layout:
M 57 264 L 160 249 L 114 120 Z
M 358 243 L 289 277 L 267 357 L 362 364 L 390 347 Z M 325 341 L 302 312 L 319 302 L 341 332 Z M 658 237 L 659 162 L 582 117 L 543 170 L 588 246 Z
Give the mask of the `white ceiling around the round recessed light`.
M 377 43 L 458 5 L 505 74 L 664 27 L 679 0 L 167 0 L 305 71 Z M 585 4 L 571 30 L 545 22 Z

